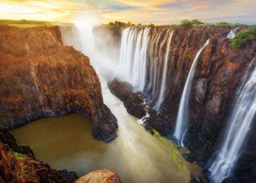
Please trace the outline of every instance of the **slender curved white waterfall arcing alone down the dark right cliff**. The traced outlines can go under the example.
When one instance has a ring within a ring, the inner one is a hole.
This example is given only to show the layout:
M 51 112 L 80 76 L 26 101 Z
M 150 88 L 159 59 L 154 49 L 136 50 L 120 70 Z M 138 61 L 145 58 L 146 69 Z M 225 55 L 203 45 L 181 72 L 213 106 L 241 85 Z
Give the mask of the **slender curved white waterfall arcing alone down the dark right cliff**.
M 178 143 L 180 146 L 183 146 L 183 137 L 186 134 L 186 126 L 188 123 L 188 108 L 189 108 L 189 96 L 190 96 L 190 90 L 191 90 L 191 83 L 192 79 L 195 74 L 195 68 L 198 63 L 198 59 L 200 57 L 200 54 L 202 50 L 204 49 L 205 46 L 209 43 L 209 40 L 206 41 L 204 46 L 198 51 L 198 53 L 195 56 L 195 59 L 192 63 L 191 69 L 189 71 L 189 75 L 186 80 L 186 84 L 183 89 L 182 97 L 180 100 L 180 106 L 179 106 L 179 111 L 178 111 L 178 116 L 177 116 L 177 121 L 176 121 L 176 126 L 175 126 L 175 132 L 174 136 L 178 140 Z

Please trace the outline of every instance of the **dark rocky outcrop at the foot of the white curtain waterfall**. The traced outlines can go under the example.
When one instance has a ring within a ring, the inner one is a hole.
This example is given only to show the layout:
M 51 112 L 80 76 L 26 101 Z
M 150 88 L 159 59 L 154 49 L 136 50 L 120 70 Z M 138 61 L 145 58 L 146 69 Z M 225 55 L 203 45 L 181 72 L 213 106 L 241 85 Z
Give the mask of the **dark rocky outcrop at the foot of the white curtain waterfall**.
M 123 103 L 127 112 L 135 117 L 142 118 L 146 115 L 145 104 L 142 95 L 134 93 L 134 87 L 128 82 L 122 82 L 118 77 L 108 81 L 108 88 L 112 94 L 118 97 Z

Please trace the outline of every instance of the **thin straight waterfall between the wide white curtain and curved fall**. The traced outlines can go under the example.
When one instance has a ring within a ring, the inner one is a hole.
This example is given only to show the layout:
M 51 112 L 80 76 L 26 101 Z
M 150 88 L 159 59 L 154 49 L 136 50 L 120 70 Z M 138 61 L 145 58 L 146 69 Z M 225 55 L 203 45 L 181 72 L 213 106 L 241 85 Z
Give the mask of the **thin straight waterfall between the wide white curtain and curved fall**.
M 157 104 L 155 105 L 155 109 L 157 111 L 160 110 L 160 105 L 163 102 L 164 92 L 166 90 L 166 75 L 167 75 L 167 67 L 168 67 L 168 59 L 169 59 L 169 49 L 170 49 L 170 44 L 172 41 L 172 34 L 173 34 L 173 30 L 171 32 L 171 35 L 169 36 L 168 41 L 167 41 L 167 48 L 166 48 L 166 53 L 165 53 L 165 57 L 164 57 L 164 69 L 163 69 L 163 76 L 162 76 L 162 84 L 160 87 L 160 94 L 158 96 Z

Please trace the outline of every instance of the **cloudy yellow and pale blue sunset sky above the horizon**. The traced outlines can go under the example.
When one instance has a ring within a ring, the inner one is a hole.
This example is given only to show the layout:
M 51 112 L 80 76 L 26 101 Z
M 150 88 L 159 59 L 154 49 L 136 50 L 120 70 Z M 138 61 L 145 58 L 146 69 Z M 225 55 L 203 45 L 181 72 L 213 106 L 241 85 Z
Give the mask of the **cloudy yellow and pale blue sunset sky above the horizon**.
M 0 0 L 0 19 L 95 25 L 120 20 L 155 25 L 198 19 L 256 24 L 256 0 Z

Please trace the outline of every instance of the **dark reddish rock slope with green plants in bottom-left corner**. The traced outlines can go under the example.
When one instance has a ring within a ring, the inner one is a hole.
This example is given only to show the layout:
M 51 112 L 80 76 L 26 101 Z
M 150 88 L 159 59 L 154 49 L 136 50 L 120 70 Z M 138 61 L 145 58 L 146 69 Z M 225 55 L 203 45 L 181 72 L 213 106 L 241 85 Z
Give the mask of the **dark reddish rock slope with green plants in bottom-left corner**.
M 75 172 L 51 169 L 47 163 L 35 158 L 17 146 L 15 138 L 0 126 L 0 182 L 1 183 L 73 183 L 78 179 Z

